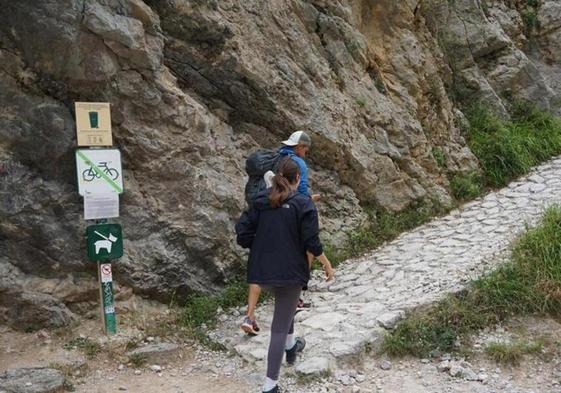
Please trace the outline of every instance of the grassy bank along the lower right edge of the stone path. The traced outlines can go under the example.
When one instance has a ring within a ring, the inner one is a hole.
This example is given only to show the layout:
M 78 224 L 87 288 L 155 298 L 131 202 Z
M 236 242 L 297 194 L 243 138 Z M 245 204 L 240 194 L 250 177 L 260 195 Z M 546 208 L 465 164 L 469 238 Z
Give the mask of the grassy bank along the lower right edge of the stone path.
M 427 356 L 435 349 L 454 351 L 458 338 L 465 340 L 469 334 L 510 315 L 559 316 L 560 262 L 561 207 L 555 206 L 545 212 L 538 227 L 515 242 L 509 263 L 474 281 L 466 290 L 411 314 L 386 336 L 383 350 L 395 356 Z M 494 349 L 499 356 L 500 350 Z

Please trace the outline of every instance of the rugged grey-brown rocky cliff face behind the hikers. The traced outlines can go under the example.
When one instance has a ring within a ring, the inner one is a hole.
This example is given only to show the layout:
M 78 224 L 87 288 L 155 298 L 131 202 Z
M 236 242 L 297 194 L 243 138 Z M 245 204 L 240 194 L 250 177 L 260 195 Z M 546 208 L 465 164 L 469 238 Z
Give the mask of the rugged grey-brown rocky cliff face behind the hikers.
M 295 129 L 324 237 L 361 206 L 449 204 L 477 168 L 460 127 L 482 101 L 559 113 L 561 4 L 478 0 L 0 0 L 0 322 L 60 326 L 95 300 L 73 103 L 111 103 L 123 153 L 121 284 L 219 288 L 243 258 L 244 160 Z M 445 168 L 432 155 L 442 149 Z

